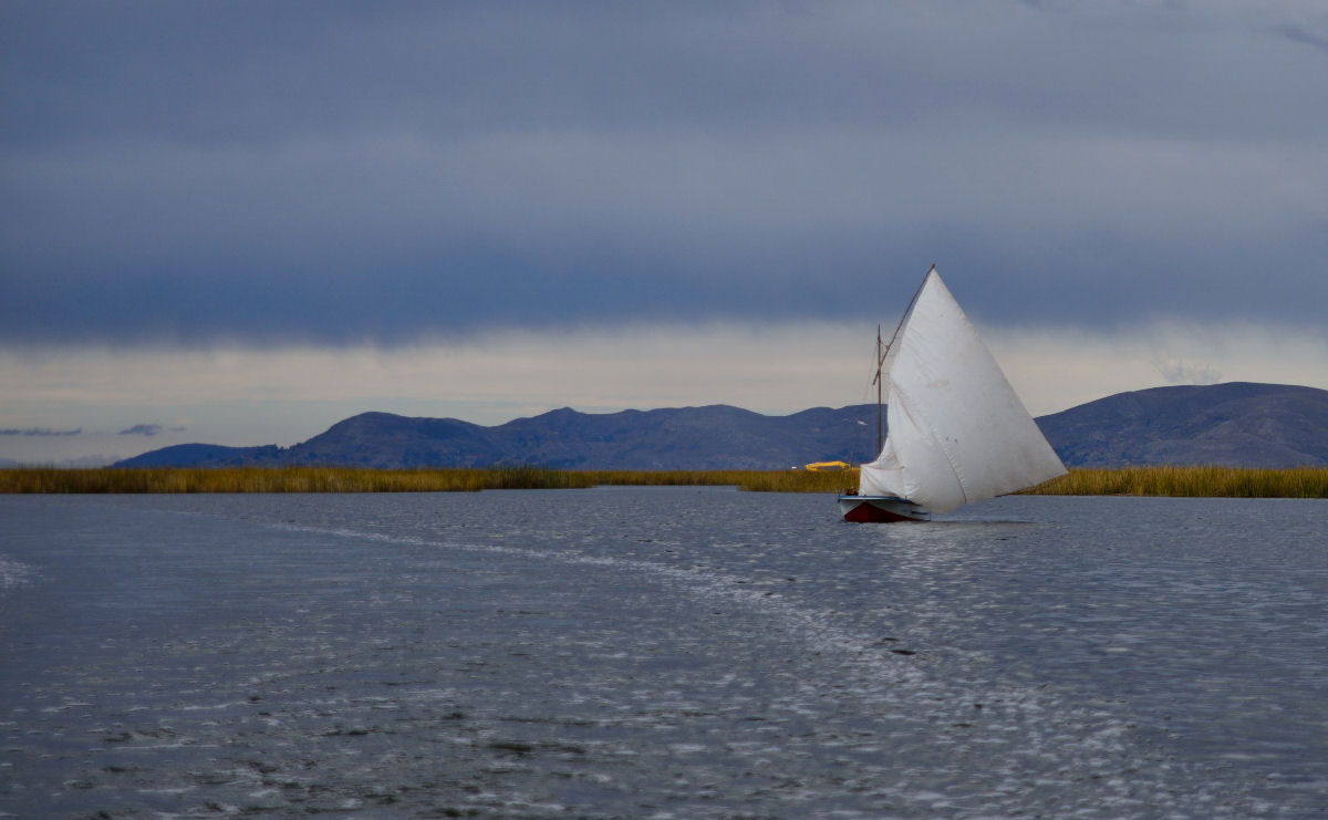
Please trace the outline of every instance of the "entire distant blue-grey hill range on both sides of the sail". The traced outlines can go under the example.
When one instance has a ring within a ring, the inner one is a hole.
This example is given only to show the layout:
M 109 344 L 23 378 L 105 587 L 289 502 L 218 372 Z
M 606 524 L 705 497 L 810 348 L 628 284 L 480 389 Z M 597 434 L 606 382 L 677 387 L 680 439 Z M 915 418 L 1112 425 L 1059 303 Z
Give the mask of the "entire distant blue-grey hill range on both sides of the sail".
M 874 405 L 762 415 L 712 405 L 622 413 L 552 410 L 486 427 L 363 413 L 292 447 L 179 444 L 120 467 L 293 466 L 583 470 L 785 470 L 874 458 Z M 1328 464 L 1328 391 L 1227 383 L 1121 393 L 1037 419 L 1069 467 Z

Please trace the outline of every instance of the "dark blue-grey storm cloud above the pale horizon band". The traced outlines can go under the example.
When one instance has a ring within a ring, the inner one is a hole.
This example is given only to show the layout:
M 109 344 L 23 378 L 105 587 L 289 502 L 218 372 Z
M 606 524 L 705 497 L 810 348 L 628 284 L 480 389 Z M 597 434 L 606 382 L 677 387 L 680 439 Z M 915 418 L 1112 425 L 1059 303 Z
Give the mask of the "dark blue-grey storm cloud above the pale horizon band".
M 1319 321 L 1293 5 L 0 7 L 0 340 Z M 1270 11 L 1271 9 L 1271 11 Z

